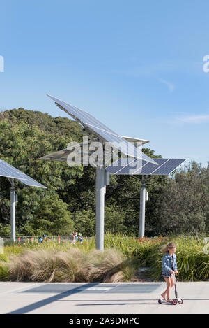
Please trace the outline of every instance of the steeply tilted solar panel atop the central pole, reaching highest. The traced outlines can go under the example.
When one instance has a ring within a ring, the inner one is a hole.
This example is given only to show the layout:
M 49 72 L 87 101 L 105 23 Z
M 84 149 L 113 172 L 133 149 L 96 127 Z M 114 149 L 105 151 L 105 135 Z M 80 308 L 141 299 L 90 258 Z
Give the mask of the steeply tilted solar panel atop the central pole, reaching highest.
M 47 94 L 47 96 L 54 100 L 57 106 L 63 109 L 65 113 L 70 114 L 72 118 L 77 120 L 84 127 L 90 129 L 93 134 L 96 134 L 97 136 L 102 138 L 103 141 L 109 142 L 114 145 L 114 147 L 118 148 L 118 150 L 123 152 L 123 154 L 130 157 L 144 159 L 146 160 L 146 162 L 156 164 L 153 159 L 145 155 L 143 152 L 141 152 L 141 150 L 134 147 L 132 143 L 126 141 L 124 138 L 109 129 L 109 127 L 96 120 L 95 117 L 93 117 L 91 114 L 68 103 L 65 103 L 65 101 L 56 99 L 55 97 L 52 97 L 49 94 Z

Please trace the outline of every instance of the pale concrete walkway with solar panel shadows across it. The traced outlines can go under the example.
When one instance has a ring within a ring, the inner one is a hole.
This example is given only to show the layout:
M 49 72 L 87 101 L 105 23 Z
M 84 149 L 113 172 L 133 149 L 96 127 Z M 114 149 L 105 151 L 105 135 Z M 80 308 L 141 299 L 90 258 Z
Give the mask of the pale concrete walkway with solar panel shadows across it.
M 178 283 L 183 304 L 158 304 L 165 283 L 0 283 L 0 313 L 209 313 L 209 282 Z M 171 292 L 174 298 L 174 290 Z

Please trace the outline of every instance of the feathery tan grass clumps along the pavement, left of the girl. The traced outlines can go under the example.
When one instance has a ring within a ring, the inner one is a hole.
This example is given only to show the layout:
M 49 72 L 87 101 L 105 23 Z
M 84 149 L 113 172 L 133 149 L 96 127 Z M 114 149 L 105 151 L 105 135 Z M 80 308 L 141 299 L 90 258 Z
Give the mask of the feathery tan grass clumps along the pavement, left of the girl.
M 116 282 L 130 279 L 130 262 L 117 250 L 68 252 L 26 250 L 8 264 L 10 280 L 39 282 Z

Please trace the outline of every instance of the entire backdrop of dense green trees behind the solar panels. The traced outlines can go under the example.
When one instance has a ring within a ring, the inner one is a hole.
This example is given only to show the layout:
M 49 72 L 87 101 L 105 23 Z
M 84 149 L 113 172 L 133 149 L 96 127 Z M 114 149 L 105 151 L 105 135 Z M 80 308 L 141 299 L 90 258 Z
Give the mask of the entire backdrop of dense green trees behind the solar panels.
M 82 141 L 82 127 L 68 118 L 53 118 L 24 108 L 0 113 L 0 158 L 47 187 L 16 183 L 17 234 L 68 235 L 72 229 L 95 235 L 95 169 L 38 160 Z M 150 157 L 153 150 L 144 148 Z M 137 236 L 141 181 L 111 176 L 105 194 L 105 231 Z M 10 183 L 0 177 L 0 236 L 10 234 Z M 209 166 L 192 163 L 173 177 L 147 183 L 146 235 L 209 231 Z

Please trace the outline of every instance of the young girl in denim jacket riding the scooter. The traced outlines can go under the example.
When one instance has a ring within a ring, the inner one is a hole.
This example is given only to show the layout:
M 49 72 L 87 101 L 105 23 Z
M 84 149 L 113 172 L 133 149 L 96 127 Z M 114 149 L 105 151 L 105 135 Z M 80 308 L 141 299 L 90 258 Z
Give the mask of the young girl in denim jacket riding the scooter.
M 178 273 L 176 264 L 176 244 L 169 243 L 162 248 L 162 253 L 166 253 L 162 257 L 162 276 L 167 283 L 167 289 L 161 294 L 163 299 L 167 302 L 172 302 L 170 298 L 171 288 L 175 285 L 175 273 Z

